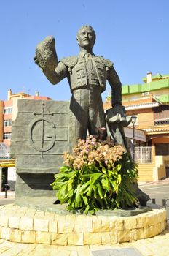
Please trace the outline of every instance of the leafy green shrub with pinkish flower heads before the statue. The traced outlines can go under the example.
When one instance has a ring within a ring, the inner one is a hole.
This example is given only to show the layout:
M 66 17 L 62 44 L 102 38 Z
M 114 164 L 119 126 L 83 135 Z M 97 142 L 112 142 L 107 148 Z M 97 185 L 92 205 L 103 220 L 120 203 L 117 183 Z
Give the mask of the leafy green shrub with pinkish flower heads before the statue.
M 68 210 L 95 214 L 98 209 L 128 208 L 137 204 L 133 183 L 138 170 L 122 146 L 90 135 L 79 140 L 73 154 L 64 154 L 64 166 L 52 188 Z

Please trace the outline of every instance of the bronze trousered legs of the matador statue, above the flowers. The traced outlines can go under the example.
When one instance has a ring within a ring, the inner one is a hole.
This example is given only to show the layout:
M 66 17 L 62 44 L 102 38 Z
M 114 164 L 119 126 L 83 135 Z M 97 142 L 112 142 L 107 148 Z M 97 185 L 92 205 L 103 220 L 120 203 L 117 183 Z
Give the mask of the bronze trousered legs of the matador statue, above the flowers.
M 97 134 L 97 127 L 106 127 L 100 87 L 77 89 L 70 102 L 70 137 L 71 145 L 77 140 Z

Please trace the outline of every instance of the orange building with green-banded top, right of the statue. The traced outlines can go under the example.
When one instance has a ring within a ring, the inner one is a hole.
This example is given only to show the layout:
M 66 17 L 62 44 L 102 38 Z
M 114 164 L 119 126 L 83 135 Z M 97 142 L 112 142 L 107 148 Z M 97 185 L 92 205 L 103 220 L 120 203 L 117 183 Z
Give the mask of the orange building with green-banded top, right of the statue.
M 153 181 L 169 176 L 169 75 L 148 73 L 143 80 L 143 84 L 122 86 L 122 105 L 127 116 L 137 117 L 135 162 L 139 180 Z M 109 97 L 104 108 L 111 108 Z M 132 148 L 132 124 L 125 128 L 125 135 Z

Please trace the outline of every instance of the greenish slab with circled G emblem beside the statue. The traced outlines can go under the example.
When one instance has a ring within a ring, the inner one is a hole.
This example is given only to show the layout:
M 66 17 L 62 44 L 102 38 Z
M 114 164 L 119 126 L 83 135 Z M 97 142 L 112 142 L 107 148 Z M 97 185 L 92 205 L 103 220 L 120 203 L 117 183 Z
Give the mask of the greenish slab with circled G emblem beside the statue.
M 52 196 L 50 184 L 69 151 L 69 102 L 19 99 L 12 123 L 16 197 Z

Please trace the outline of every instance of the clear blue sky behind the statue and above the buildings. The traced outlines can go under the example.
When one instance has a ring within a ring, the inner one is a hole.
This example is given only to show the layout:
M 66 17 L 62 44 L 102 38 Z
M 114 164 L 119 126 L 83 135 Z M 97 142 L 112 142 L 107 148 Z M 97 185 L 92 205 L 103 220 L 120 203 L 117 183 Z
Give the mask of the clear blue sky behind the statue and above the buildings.
M 114 62 L 122 84 L 143 83 L 147 72 L 168 74 L 168 12 L 168 0 L 1 0 L 0 99 L 12 89 L 69 100 L 67 80 L 52 86 L 33 57 L 47 35 L 55 37 L 58 59 L 78 54 L 84 24 L 95 29 L 93 52 Z

